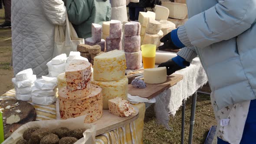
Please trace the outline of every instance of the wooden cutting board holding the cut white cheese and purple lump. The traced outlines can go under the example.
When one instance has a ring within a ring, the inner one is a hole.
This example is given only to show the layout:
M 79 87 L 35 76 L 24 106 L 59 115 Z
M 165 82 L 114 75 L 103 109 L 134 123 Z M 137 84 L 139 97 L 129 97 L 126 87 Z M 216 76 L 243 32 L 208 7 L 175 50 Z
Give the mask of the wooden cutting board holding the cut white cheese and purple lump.
M 134 88 L 131 84 L 128 85 L 128 94 L 140 96 L 142 98 L 154 98 L 167 88 L 176 85 L 183 79 L 183 75 L 172 74 L 167 76 L 167 81 L 161 84 L 146 84 L 146 88 Z

